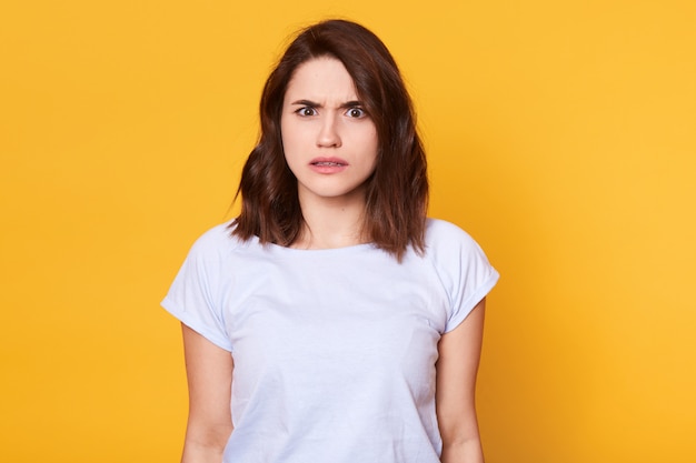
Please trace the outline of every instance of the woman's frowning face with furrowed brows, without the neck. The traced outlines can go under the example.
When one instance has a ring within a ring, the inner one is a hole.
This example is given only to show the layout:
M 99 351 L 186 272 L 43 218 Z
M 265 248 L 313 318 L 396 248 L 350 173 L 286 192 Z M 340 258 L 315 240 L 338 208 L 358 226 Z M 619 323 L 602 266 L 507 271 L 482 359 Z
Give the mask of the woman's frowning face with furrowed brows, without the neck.
M 365 201 L 365 181 L 377 160 L 377 130 L 339 60 L 318 58 L 296 69 L 286 89 L 280 130 L 300 204 Z

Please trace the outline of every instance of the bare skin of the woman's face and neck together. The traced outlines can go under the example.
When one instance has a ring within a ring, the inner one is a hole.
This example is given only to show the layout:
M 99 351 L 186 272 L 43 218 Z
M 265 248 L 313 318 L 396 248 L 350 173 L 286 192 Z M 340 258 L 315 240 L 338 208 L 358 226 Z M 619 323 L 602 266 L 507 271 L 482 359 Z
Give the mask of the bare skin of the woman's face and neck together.
M 366 241 L 364 184 L 375 170 L 377 129 L 340 61 L 319 58 L 297 68 L 286 90 L 280 129 L 308 224 L 294 246 L 340 248 Z M 316 160 L 341 160 L 345 165 L 318 171 Z

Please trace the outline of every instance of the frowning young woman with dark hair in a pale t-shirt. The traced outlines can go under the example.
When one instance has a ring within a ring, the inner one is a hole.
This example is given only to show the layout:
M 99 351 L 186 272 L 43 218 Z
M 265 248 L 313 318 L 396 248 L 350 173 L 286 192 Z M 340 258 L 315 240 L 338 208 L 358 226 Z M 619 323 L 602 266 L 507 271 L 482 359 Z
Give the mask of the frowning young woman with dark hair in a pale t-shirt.
M 183 463 L 483 462 L 474 391 L 498 274 L 426 219 L 426 160 L 382 42 L 304 30 L 271 72 L 242 210 L 191 249 Z

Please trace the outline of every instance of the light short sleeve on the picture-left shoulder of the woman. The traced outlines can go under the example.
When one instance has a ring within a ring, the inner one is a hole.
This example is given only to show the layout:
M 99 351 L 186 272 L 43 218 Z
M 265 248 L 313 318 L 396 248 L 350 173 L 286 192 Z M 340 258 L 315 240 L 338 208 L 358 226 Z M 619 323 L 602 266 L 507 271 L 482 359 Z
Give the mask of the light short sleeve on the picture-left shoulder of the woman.
M 220 296 L 222 239 L 230 240 L 219 225 L 196 241 L 161 304 L 183 324 L 231 352 Z

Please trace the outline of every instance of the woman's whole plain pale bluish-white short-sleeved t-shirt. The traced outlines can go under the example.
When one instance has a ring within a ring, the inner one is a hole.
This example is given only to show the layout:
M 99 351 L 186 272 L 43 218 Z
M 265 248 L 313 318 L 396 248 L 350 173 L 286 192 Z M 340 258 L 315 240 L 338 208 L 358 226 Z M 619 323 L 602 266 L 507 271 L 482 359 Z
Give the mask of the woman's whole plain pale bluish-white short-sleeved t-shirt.
M 498 273 L 456 225 L 426 254 L 298 250 L 230 238 L 192 246 L 162 305 L 235 359 L 225 463 L 436 463 L 435 362 Z

